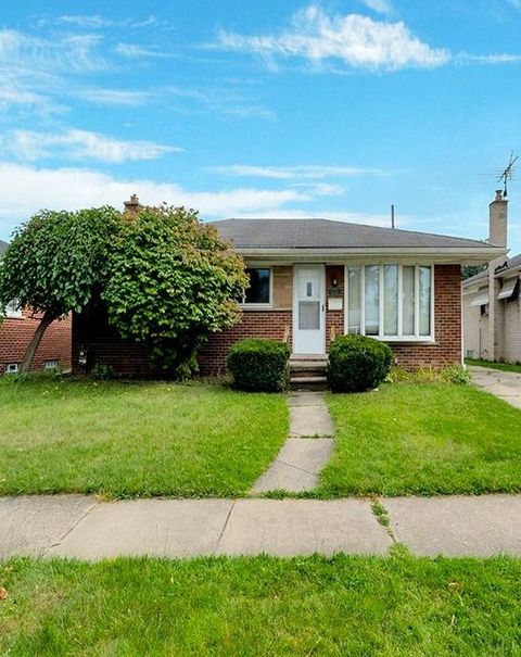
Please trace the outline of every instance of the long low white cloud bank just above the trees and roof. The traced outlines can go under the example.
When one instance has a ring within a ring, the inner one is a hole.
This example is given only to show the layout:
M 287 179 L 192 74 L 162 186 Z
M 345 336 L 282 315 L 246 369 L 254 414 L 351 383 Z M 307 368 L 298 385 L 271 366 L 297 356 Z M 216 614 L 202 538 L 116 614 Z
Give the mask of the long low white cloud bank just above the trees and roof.
M 0 163 L 0 238 L 42 207 L 77 210 L 103 204 L 122 207 L 137 193 L 144 204 L 195 207 L 207 219 L 236 217 L 303 218 L 323 216 L 338 220 L 389 225 L 383 215 L 350 212 L 306 211 L 313 192 L 297 189 L 266 190 L 239 187 L 220 191 L 189 190 L 174 182 L 120 180 L 86 168 L 46 168 Z M 317 199 L 320 194 L 317 194 Z

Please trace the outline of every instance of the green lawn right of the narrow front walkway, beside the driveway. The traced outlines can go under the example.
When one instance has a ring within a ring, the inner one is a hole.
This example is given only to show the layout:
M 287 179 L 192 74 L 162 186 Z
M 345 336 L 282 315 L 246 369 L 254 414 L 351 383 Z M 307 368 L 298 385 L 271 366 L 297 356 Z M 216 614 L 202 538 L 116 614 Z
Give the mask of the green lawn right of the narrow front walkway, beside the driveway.
M 521 491 L 521 413 L 468 386 L 328 396 L 336 446 L 320 496 Z

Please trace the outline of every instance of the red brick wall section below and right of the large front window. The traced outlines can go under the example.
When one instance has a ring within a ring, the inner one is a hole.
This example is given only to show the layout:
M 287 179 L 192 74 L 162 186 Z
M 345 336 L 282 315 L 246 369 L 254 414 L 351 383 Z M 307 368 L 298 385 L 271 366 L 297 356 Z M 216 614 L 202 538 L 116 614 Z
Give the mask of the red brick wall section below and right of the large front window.
M 407 369 L 461 363 L 461 267 L 434 267 L 434 344 L 391 344 Z

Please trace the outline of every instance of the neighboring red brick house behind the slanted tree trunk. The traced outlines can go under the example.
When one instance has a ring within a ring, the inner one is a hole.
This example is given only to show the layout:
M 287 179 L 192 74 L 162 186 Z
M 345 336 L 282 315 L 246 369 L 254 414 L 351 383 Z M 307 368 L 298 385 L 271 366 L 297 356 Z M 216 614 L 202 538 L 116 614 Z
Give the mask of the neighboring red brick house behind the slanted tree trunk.
M 0 240 L 0 261 L 8 245 Z M 18 371 L 38 324 L 38 317 L 20 308 L 16 302 L 4 308 L 0 323 L 0 375 Z M 71 324 L 68 317 L 51 324 L 36 352 L 33 370 L 71 367 Z

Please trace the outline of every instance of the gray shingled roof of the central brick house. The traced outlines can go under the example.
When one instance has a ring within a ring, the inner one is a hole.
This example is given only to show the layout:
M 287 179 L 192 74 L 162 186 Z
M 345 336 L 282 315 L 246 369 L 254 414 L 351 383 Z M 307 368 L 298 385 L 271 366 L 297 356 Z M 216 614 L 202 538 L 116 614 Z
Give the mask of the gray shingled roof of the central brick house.
M 478 240 L 379 228 L 331 219 L 223 219 L 212 222 L 236 249 L 479 248 Z

